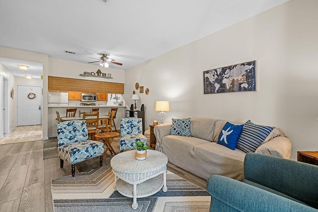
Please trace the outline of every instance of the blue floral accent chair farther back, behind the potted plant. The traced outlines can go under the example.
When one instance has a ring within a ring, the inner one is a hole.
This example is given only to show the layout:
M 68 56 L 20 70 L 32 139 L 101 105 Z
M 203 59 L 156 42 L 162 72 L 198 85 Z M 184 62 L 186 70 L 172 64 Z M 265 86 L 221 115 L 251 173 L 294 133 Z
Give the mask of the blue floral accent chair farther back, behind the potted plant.
M 120 121 L 120 151 L 135 149 L 136 141 L 143 141 L 147 145 L 147 138 L 143 135 L 143 121 L 139 118 L 125 118 Z

